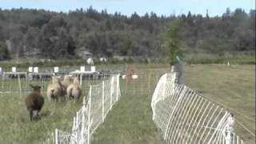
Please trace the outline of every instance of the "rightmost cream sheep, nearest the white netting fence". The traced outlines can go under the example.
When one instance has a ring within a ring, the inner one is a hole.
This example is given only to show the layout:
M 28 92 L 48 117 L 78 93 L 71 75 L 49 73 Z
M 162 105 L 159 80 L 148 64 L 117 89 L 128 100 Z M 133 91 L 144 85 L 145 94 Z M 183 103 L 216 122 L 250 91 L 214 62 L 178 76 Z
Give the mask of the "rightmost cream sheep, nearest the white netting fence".
M 66 98 L 68 99 L 74 98 L 78 102 L 81 95 L 82 95 L 82 90 L 79 85 L 79 80 L 78 80 L 78 77 L 75 77 L 74 82 L 70 84 L 70 86 L 68 86 L 66 89 Z

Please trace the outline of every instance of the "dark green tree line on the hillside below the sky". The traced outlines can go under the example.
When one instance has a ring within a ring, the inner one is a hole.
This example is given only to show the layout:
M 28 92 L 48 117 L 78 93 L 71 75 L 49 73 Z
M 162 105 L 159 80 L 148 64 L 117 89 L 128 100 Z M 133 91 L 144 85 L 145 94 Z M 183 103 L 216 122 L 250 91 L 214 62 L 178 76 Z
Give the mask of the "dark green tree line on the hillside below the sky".
M 255 10 L 226 9 L 221 17 L 201 14 L 130 17 L 89 9 L 68 13 L 0 9 L 0 60 L 6 58 L 76 58 L 81 50 L 96 57 L 166 56 L 162 35 L 179 20 L 177 39 L 186 53 L 254 53 Z M 168 53 L 167 53 L 168 54 Z M 254 53 L 255 54 L 255 53 Z

